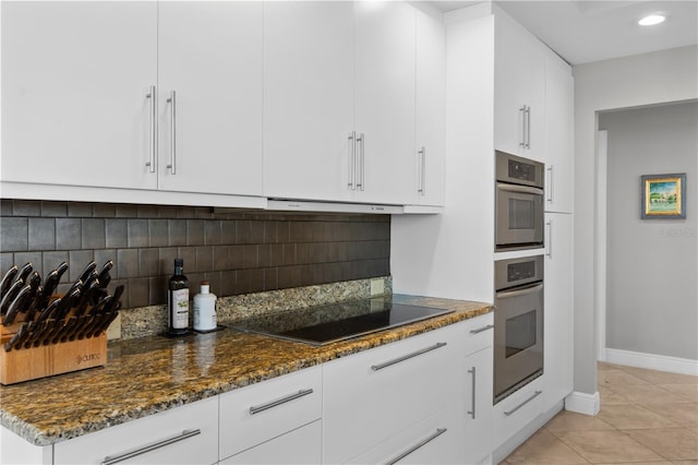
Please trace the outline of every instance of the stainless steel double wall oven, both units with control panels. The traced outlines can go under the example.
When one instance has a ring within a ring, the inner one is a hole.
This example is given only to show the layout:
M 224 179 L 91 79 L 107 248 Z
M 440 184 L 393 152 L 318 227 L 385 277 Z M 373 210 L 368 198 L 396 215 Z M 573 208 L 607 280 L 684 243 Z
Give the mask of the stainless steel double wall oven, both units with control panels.
M 544 165 L 495 152 L 495 251 L 543 247 Z M 543 255 L 495 260 L 494 403 L 543 373 Z

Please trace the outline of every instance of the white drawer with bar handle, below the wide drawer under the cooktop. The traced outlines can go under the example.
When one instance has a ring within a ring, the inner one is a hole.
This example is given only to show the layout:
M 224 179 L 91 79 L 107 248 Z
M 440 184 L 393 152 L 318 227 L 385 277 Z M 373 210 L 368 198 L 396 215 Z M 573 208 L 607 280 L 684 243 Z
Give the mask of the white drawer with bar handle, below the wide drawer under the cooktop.
M 465 464 L 462 415 L 456 406 L 410 427 L 350 464 Z

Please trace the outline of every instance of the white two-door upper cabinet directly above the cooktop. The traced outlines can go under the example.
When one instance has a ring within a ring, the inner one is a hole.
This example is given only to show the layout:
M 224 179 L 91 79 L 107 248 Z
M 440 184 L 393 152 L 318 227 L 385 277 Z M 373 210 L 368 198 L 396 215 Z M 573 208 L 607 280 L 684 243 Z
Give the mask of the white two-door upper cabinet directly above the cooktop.
M 414 203 L 413 8 L 264 8 L 264 193 Z

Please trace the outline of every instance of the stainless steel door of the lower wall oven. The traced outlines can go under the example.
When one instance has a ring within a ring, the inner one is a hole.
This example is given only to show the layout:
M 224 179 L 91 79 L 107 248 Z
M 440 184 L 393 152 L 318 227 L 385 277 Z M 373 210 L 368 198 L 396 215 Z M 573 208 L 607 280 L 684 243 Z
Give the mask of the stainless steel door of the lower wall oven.
M 496 294 L 494 402 L 543 372 L 543 284 Z

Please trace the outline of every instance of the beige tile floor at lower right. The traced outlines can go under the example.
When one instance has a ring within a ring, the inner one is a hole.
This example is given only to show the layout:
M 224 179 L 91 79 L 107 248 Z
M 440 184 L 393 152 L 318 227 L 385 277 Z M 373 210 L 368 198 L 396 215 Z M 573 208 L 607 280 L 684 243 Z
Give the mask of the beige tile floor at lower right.
M 561 412 L 504 465 L 698 465 L 698 377 L 599 362 L 601 412 Z

